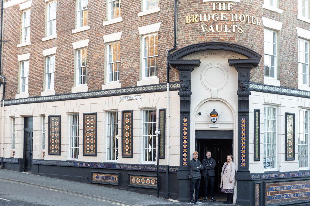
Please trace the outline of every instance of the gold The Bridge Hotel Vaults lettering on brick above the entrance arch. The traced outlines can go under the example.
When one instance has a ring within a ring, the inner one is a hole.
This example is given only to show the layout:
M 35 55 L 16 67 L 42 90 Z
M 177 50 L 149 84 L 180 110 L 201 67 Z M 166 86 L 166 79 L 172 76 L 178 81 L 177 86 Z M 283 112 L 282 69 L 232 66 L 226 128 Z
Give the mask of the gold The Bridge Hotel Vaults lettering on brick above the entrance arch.
M 260 25 L 255 16 L 233 12 L 232 3 L 211 3 L 212 11 L 210 13 L 200 13 L 185 16 L 186 24 L 198 23 L 204 33 L 210 32 L 232 32 L 242 33 L 243 26 L 238 23 L 250 23 Z M 219 24 L 219 21 L 227 23 Z M 216 22 L 216 24 L 212 24 Z

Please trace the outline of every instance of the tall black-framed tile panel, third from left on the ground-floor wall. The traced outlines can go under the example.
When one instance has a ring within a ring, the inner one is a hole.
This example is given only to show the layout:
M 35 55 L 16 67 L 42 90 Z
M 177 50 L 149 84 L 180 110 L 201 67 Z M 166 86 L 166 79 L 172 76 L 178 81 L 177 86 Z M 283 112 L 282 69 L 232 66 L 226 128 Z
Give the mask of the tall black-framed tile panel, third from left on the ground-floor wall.
M 133 111 L 122 111 L 122 157 L 132 158 Z

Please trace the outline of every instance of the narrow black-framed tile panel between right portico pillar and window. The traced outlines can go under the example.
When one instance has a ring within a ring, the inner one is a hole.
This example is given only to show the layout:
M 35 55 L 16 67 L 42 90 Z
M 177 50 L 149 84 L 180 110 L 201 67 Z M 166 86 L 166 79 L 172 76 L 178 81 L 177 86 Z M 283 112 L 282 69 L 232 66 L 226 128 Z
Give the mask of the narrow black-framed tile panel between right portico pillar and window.
M 260 110 L 254 110 L 254 161 L 260 161 Z

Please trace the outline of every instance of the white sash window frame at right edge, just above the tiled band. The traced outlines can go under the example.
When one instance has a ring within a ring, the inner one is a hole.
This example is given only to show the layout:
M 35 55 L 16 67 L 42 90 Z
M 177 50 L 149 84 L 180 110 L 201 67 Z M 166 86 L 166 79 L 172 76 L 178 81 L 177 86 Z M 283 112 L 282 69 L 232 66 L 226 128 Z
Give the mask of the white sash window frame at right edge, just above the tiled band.
M 300 48 L 303 44 L 303 49 Z M 304 61 L 300 59 L 301 53 L 303 53 Z M 303 72 L 303 65 L 306 66 L 306 73 Z M 304 39 L 298 39 L 298 73 L 299 73 L 299 85 L 309 86 L 309 41 Z M 306 75 L 306 82 L 303 81 L 303 76 Z

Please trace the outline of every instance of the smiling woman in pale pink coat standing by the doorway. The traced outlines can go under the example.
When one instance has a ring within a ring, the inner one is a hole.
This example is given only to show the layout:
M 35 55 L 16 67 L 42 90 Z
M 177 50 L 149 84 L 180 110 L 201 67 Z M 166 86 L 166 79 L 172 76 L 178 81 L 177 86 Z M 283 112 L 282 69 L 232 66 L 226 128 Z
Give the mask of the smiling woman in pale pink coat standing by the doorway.
M 224 163 L 221 173 L 221 192 L 227 193 L 227 201 L 224 204 L 231 204 L 233 188 L 235 187 L 236 165 L 232 162 L 232 155 L 227 155 L 227 162 Z

